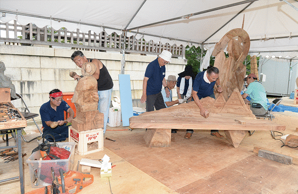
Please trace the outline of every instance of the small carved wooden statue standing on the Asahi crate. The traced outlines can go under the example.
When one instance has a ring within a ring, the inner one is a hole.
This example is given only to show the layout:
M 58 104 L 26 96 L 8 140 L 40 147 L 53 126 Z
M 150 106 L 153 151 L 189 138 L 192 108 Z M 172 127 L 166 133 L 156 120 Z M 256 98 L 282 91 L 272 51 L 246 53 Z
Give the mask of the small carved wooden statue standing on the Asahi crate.
M 72 102 L 75 103 L 76 117 L 72 121 L 72 128 L 77 131 L 103 128 L 103 113 L 99 113 L 97 81 L 92 76 L 96 71 L 93 63 L 82 65 L 81 73 L 84 77 L 78 80 Z

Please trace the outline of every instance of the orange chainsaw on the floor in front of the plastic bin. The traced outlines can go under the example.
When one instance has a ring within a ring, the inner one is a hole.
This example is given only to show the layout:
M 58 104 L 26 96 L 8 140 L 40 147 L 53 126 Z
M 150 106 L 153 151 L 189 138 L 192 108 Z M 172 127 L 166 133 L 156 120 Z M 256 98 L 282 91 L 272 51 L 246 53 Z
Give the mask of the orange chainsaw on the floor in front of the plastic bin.
M 52 185 L 26 194 L 77 194 L 84 187 L 93 183 L 93 175 L 83 174 L 77 171 L 68 171 L 65 173 L 65 171 L 60 168 L 60 176 L 56 177 L 53 167 L 51 168 L 51 171 L 53 178 Z

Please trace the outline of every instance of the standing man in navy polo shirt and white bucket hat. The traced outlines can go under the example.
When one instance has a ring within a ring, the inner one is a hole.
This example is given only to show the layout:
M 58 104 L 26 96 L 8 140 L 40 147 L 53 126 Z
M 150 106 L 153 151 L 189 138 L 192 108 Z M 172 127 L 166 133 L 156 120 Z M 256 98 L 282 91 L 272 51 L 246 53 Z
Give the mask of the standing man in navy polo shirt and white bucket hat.
M 154 61 L 149 63 L 146 68 L 143 80 L 143 95 L 141 102 L 146 102 L 146 111 L 154 111 L 166 108 L 163 95 L 161 94 L 162 86 L 165 87 L 167 97 L 169 97 L 169 88 L 166 83 L 166 66 L 171 62 L 172 53 L 163 50 Z

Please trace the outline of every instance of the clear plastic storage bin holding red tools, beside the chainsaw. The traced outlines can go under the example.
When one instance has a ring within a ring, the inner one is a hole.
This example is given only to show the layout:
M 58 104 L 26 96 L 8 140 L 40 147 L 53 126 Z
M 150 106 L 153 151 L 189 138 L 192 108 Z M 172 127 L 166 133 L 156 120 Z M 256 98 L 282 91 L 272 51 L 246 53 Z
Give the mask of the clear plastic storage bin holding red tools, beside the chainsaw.
M 53 167 L 55 176 L 60 176 L 59 168 L 66 172 L 73 170 L 75 162 L 75 142 L 57 142 L 61 148 L 66 148 L 71 152 L 68 159 L 42 161 L 40 151 L 33 152 L 26 160 L 29 166 L 31 187 L 45 187 L 52 184 L 51 167 Z M 35 160 L 36 159 L 36 160 Z

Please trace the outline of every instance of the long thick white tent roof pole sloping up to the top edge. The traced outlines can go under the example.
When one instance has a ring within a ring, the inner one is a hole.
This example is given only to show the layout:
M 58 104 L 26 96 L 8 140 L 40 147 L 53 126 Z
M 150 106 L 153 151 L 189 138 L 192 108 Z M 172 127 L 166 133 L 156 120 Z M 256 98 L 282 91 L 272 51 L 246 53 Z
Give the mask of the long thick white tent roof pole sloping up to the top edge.
M 225 9 L 225 8 L 228 8 L 228 7 L 234 7 L 234 6 L 237 6 L 237 5 L 242 5 L 244 3 L 249 3 L 249 2 L 252 3 L 254 1 L 257 1 L 257 0 L 243 0 L 241 2 L 232 3 L 232 4 L 224 5 L 224 6 L 221 6 L 221 7 L 216 7 L 216 8 L 213 8 L 213 9 L 208 9 L 208 10 L 205 10 L 205 11 L 202 11 L 202 12 L 196 12 L 196 13 L 188 14 L 188 15 L 185 15 L 185 16 L 174 17 L 174 18 L 171 18 L 171 19 L 166 19 L 166 20 L 153 22 L 153 23 L 150 23 L 150 24 L 142 25 L 142 26 L 133 27 L 133 28 L 128 29 L 128 31 L 138 29 L 138 28 L 144 28 L 144 27 L 152 26 L 152 25 L 156 25 L 156 24 L 166 23 L 166 22 L 169 22 L 169 21 L 177 20 L 177 19 L 185 19 L 185 18 L 188 19 L 191 16 L 197 16 L 197 15 L 200 15 L 200 14 L 205 14 L 205 13 L 208 13 L 208 12 L 213 12 L 213 11 Z

